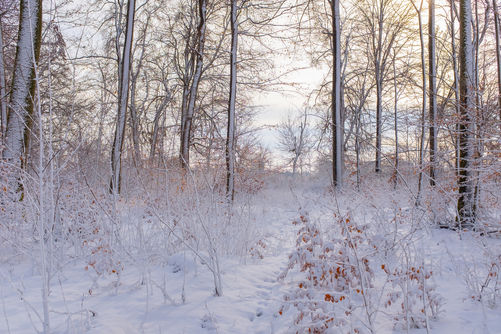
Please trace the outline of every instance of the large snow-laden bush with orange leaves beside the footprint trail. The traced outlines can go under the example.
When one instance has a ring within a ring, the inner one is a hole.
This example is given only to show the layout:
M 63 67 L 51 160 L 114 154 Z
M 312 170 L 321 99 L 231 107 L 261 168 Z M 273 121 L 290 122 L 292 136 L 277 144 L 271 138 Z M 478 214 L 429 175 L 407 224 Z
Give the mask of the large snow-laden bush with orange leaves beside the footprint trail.
M 299 209 L 299 215 L 293 221 L 300 225 L 297 248 L 289 255 L 288 266 L 278 281 L 284 282 L 296 265 L 306 275 L 296 288 L 284 294 L 276 315 L 284 314 L 291 304 L 296 307 L 296 333 L 334 333 L 336 327 L 344 333 L 365 332 L 363 327 L 371 324 L 358 315 L 355 301 L 364 301 L 364 293 L 373 289 L 371 261 L 363 256 L 366 250 L 374 249 L 376 242 L 367 237 L 370 224 L 357 223 L 351 211 L 343 216 L 338 213 L 334 215 L 334 228 L 341 233 L 329 237 L 317 222 L 311 221 L 304 208 Z

